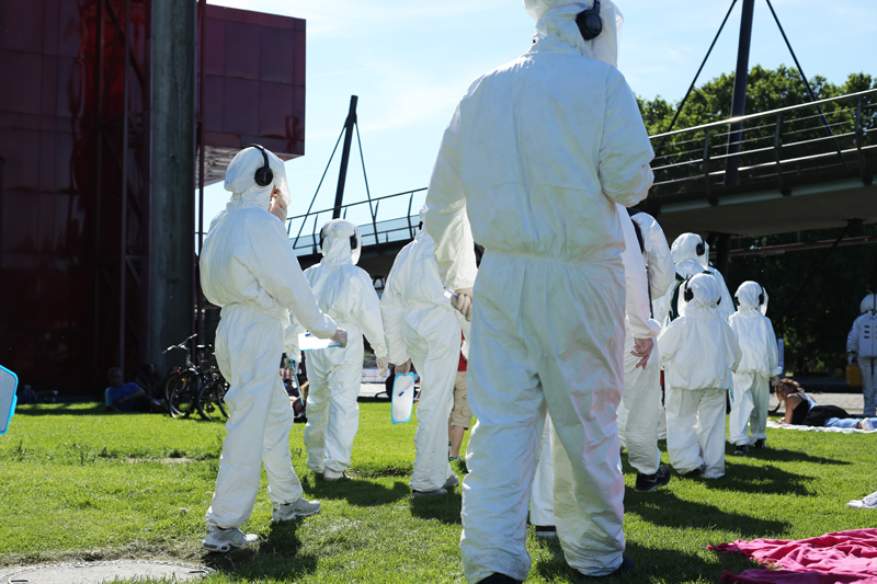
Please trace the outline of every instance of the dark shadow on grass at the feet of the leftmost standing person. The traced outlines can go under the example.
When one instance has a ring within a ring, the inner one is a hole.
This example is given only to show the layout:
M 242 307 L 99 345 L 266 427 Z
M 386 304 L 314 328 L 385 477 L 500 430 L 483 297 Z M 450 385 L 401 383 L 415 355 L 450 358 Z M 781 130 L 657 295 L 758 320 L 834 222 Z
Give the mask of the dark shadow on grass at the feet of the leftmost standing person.
M 264 580 L 296 582 L 317 571 L 315 556 L 299 556 L 301 540 L 298 524 L 273 524 L 267 538 L 258 546 L 232 550 L 229 553 L 205 553 L 205 565 L 237 580 L 262 582 Z

